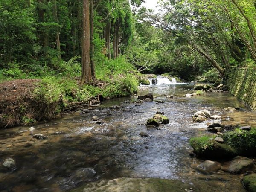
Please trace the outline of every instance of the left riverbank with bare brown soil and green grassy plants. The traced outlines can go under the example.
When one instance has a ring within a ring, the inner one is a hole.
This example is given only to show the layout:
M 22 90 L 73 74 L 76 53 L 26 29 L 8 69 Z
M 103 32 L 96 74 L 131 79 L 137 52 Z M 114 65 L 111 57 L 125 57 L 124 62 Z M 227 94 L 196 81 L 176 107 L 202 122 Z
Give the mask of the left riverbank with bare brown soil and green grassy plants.
M 0 127 L 54 119 L 64 112 L 137 92 L 137 79 L 130 74 L 110 76 L 82 86 L 79 79 L 51 76 L 1 83 Z

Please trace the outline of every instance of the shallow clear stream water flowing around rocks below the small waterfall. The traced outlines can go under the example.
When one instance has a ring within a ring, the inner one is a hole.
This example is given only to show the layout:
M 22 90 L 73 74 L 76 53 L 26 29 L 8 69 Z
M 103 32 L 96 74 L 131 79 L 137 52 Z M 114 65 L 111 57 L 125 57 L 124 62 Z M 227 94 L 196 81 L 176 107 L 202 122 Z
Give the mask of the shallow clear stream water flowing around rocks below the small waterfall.
M 101 179 L 156 177 L 195 184 L 195 191 L 243 192 L 241 175 L 223 171 L 204 175 L 191 169 L 192 163 L 203 160 L 189 157 L 189 138 L 207 134 L 209 122 L 192 122 L 192 115 L 208 109 L 220 115 L 223 124 L 251 126 L 256 126 L 256 115 L 230 93 L 185 97 L 194 93 L 192 88 L 192 84 L 154 85 L 139 94 L 153 93 L 165 103 L 135 106 L 137 97 L 132 96 L 105 101 L 100 109 L 91 108 L 81 116 L 65 114 L 35 125 L 34 134 L 44 134 L 44 140 L 32 138 L 26 126 L 0 130 L 0 163 L 11 157 L 17 166 L 13 172 L 0 173 L 0 191 L 61 192 Z M 169 95 L 174 99 L 165 98 Z M 111 110 L 111 105 L 122 108 Z M 238 106 L 241 110 L 235 113 L 223 110 Z M 157 111 L 165 112 L 170 123 L 147 130 L 143 124 Z M 92 116 L 104 123 L 96 124 Z M 141 131 L 149 137 L 140 137 Z

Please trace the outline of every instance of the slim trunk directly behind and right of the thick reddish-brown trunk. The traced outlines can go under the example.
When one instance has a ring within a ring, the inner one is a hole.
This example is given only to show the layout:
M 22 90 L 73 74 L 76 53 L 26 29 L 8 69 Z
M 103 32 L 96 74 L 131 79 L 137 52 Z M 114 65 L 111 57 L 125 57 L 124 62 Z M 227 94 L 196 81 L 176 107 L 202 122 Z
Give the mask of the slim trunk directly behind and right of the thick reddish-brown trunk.
M 94 0 L 90 0 L 90 67 L 92 78 L 95 79 L 95 64 L 94 64 L 94 44 L 93 44 L 93 18 L 94 18 Z

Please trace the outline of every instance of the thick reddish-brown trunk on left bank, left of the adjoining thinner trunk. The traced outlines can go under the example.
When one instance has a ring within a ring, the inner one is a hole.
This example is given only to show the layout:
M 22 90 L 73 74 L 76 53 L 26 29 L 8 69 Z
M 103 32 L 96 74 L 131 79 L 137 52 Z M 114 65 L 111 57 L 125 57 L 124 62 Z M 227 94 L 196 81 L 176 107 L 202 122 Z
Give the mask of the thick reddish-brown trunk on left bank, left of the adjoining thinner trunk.
M 90 2 L 83 0 L 83 37 L 82 37 L 82 75 L 81 84 L 88 83 L 92 80 L 90 68 Z

